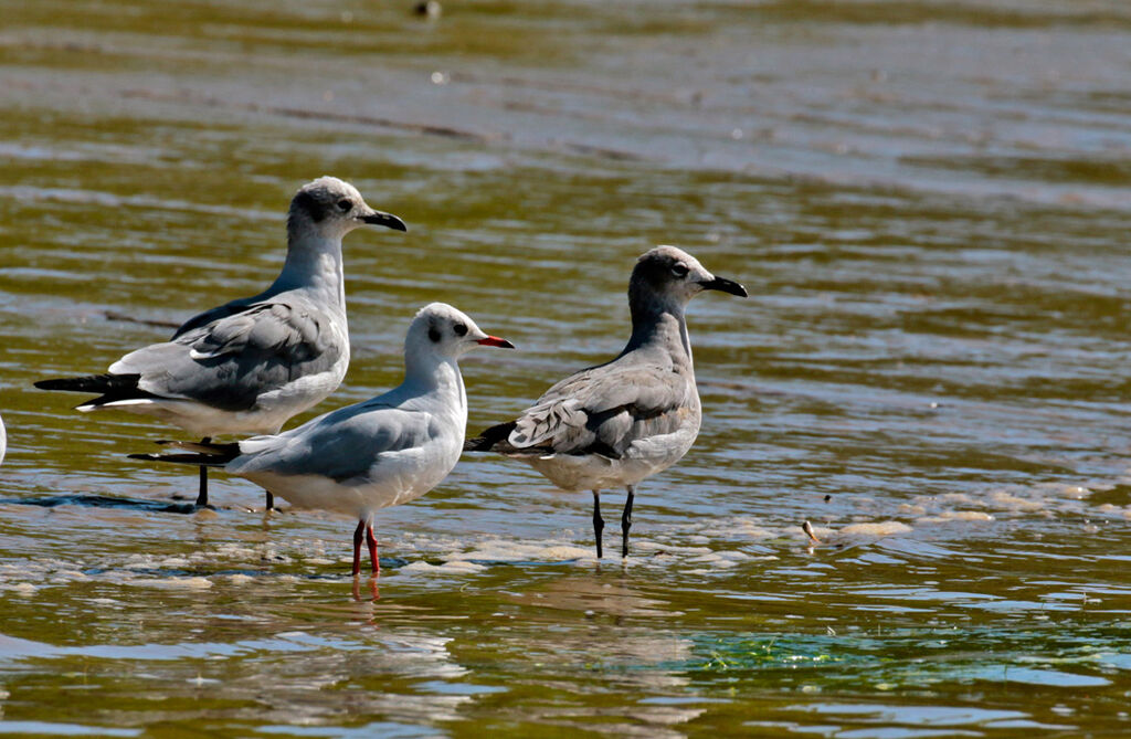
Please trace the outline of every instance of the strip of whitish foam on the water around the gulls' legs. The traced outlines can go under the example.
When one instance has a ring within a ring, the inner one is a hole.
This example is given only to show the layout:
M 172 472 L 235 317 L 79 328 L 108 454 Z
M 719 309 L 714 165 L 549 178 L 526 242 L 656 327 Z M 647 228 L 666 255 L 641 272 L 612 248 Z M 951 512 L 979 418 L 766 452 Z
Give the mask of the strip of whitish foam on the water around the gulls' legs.
M 960 540 L 974 532 L 982 535 L 987 526 L 1005 519 L 1082 516 L 1094 518 L 1089 524 L 1093 526 L 1105 518 L 1122 524 L 1131 521 L 1131 505 L 1094 502 L 1097 492 L 1119 483 L 1119 480 L 1080 480 L 988 485 L 981 491 L 909 496 L 895 505 L 867 496 L 843 496 L 832 506 L 817 506 L 809 518 L 813 524 L 820 522 L 813 531 L 821 543 L 857 547 L 886 538 Z M 633 531 L 631 556 L 623 559 L 620 532 L 613 525 L 605 532 L 605 557 L 599 562 L 593 532 L 587 526 L 563 529 L 545 539 L 510 539 L 494 532 L 454 535 L 450 530 L 417 527 L 390 532 L 382 541 L 382 552 L 407 560 L 403 567 L 386 567 L 383 575 L 468 578 L 500 565 L 585 570 L 613 562 L 653 570 L 680 568 L 681 574 L 699 576 L 720 575 L 754 566 L 754 561 L 778 559 L 783 552 L 795 552 L 798 547 L 812 547 L 802 521 L 784 521 L 784 517 L 775 512 L 763 516 L 705 515 L 649 522 Z M 244 522 L 244 517 L 234 514 L 221 516 L 208 524 L 215 530 L 214 539 L 198 541 L 197 549 L 188 551 L 183 547 L 176 552 L 84 551 L 77 555 L 77 561 L 33 556 L 19 562 L 0 564 L 0 591 L 33 598 L 43 588 L 77 582 L 189 592 L 221 583 L 245 585 L 264 576 L 277 583 L 308 582 L 310 576 L 327 574 L 347 578 L 352 559 L 347 542 L 311 536 L 314 532 L 292 527 L 264 532 L 226 527 Z M 316 529 L 318 525 L 313 523 Z M 44 550 L 44 553 L 53 552 Z M 239 569 L 241 574 L 209 574 L 218 569 Z

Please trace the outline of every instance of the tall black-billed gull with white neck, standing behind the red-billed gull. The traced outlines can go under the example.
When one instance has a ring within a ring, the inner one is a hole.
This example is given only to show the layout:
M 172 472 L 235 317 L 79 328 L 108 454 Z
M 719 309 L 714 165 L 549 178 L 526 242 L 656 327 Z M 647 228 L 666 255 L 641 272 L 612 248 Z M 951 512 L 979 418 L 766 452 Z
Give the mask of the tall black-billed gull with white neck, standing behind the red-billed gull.
M 78 410 L 154 415 L 205 442 L 219 433 L 275 433 L 345 377 L 342 238 L 365 224 L 406 230 L 397 216 L 365 205 L 348 182 L 309 182 L 291 200 L 286 261 L 270 287 L 190 318 L 169 342 L 127 354 L 105 375 L 35 386 L 101 393 Z M 268 508 L 271 502 L 268 492 Z M 197 505 L 207 504 L 208 472 L 201 466 Z

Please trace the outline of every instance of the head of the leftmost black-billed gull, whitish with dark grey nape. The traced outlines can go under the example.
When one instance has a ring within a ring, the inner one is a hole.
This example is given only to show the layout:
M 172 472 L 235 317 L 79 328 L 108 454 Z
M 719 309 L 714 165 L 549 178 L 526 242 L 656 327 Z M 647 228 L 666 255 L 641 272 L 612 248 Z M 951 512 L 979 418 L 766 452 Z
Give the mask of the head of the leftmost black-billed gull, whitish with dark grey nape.
M 357 189 L 336 177 L 320 177 L 299 188 L 291 200 L 287 227 L 313 230 L 323 237 L 340 239 L 363 225 L 379 225 L 407 231 L 405 222 L 391 213 L 374 210 Z

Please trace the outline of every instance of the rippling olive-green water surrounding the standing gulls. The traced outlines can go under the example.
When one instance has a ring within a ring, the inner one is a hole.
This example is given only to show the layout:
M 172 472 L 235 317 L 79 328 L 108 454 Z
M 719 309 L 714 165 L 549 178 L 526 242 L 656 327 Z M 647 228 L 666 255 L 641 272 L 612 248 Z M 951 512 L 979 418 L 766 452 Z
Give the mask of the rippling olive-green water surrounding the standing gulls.
M 1131 7 L 411 6 L 0 2 L 0 733 L 1131 731 Z M 409 232 L 347 238 L 319 411 L 432 300 L 519 345 L 474 431 L 620 350 L 646 249 L 746 285 L 631 557 L 481 456 L 355 591 L 353 522 L 175 513 L 124 456 L 175 430 L 32 388 L 261 290 L 321 174 Z

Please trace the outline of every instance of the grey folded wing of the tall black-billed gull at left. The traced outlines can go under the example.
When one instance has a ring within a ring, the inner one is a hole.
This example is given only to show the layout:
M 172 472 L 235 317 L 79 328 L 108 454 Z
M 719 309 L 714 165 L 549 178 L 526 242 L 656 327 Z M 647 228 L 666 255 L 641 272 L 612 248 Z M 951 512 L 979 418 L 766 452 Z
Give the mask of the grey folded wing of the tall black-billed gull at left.
M 331 369 L 348 341 L 333 324 L 328 312 L 292 295 L 139 349 L 110 371 L 139 375 L 138 388 L 159 397 L 244 411 L 264 393 Z

